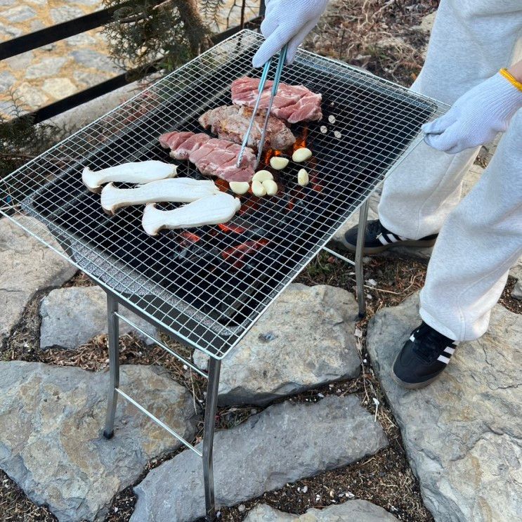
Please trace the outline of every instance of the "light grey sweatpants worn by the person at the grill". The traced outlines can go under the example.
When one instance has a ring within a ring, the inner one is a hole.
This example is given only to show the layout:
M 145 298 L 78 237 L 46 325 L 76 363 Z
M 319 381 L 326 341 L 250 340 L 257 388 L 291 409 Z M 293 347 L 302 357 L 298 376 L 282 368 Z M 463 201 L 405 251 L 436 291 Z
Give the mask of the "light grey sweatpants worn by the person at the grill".
M 522 0 L 441 0 L 426 63 L 412 90 L 452 104 L 522 59 Z M 439 233 L 420 315 L 450 339 L 488 329 L 490 311 L 522 255 L 522 110 L 483 176 L 460 200 L 478 148 L 447 155 L 421 143 L 383 187 L 381 223 L 418 239 Z

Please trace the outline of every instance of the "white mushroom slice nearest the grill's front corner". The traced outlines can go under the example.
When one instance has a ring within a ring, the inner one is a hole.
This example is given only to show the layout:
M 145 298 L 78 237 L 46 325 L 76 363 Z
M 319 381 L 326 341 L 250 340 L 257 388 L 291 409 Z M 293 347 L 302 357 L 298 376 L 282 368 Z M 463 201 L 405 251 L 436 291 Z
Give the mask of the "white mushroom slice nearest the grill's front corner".
M 174 210 L 159 210 L 149 203 L 143 211 L 143 230 L 148 235 L 157 235 L 164 228 L 218 225 L 230 221 L 240 207 L 240 200 L 226 193 L 202 197 Z

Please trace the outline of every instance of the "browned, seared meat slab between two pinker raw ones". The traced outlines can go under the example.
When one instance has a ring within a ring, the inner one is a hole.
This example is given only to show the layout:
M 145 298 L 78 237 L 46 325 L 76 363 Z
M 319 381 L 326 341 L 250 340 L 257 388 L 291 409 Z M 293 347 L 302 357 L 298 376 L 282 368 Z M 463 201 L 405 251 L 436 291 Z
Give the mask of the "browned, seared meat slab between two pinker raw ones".
M 261 141 L 261 130 L 265 123 L 266 110 L 259 110 L 255 119 L 252 132 L 249 134 L 247 145 L 259 148 Z M 217 134 L 223 140 L 242 143 L 247 133 L 252 109 L 240 105 L 223 105 L 216 109 L 207 110 L 199 119 L 204 129 L 210 129 L 211 133 Z M 285 150 L 294 145 L 296 141 L 292 131 L 282 120 L 270 115 L 266 127 L 266 139 L 263 149 Z

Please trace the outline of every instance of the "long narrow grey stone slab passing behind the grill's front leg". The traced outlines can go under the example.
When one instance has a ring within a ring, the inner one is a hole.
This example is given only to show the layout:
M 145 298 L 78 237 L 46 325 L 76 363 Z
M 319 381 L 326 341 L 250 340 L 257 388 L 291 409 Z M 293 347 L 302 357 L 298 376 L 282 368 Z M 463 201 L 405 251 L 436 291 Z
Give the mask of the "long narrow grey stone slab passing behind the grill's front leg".
M 268 407 L 214 440 L 216 504 L 231 506 L 287 482 L 346 466 L 387 445 L 357 396 Z M 189 522 L 204 516 L 202 462 L 186 450 L 134 488 L 131 522 Z

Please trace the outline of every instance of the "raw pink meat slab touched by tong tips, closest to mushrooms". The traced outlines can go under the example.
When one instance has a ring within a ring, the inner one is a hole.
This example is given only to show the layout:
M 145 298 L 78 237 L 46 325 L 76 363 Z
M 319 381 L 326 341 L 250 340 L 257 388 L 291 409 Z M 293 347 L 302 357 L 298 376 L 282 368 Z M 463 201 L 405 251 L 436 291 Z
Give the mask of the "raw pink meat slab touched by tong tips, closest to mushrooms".
M 244 150 L 240 167 L 235 166 L 241 147 L 231 141 L 211 138 L 205 133 L 172 131 L 159 136 L 159 143 L 169 145 L 174 159 L 188 159 L 207 176 L 226 181 L 252 181 L 256 155 L 250 148 Z M 164 146 L 164 145 L 163 145 Z

